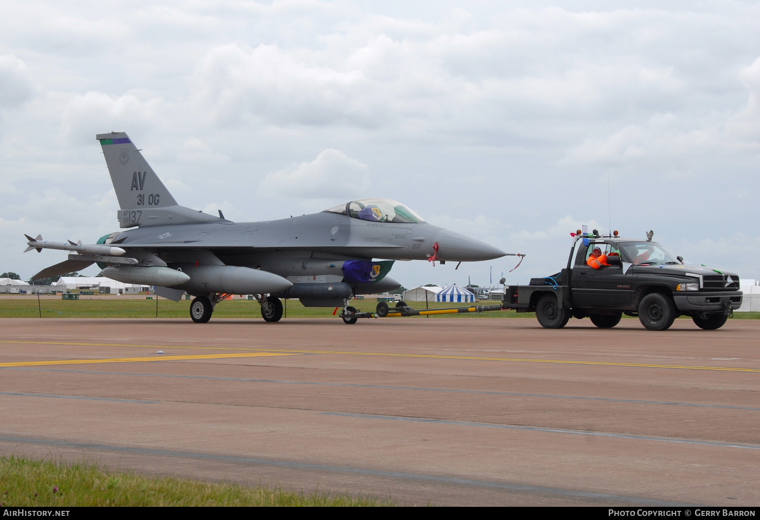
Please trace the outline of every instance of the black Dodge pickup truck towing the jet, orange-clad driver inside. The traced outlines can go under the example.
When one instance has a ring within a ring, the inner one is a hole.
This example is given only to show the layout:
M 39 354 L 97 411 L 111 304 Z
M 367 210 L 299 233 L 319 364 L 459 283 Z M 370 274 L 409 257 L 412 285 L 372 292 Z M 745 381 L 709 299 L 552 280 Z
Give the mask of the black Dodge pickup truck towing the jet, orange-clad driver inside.
M 596 247 L 610 265 L 587 265 Z M 610 328 L 625 314 L 638 316 L 651 331 L 664 331 L 679 315 L 706 330 L 720 328 L 741 305 L 738 274 L 684 265 L 651 238 L 589 234 L 575 236 L 568 265 L 559 273 L 505 286 L 502 308 L 536 312 L 545 328 L 562 328 L 571 317 Z

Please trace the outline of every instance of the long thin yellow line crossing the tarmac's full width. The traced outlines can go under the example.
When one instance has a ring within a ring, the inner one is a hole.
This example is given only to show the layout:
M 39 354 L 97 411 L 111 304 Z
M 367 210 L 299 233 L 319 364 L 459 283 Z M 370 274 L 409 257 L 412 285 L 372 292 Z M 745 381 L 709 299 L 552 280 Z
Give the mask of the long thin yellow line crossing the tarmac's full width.
M 740 368 L 736 366 L 689 366 L 689 365 L 660 365 L 655 363 L 616 363 L 614 361 L 579 361 L 579 360 L 536 360 L 526 357 L 473 357 L 473 356 L 443 356 L 437 354 L 392 354 L 389 352 L 347 352 L 345 350 L 296 350 L 284 348 L 242 348 L 242 347 L 188 347 L 183 345 L 134 345 L 116 343 L 74 343 L 65 341 L 8 341 L 0 343 L 24 343 L 46 345 L 79 345 L 87 347 L 147 347 L 147 348 L 202 348 L 214 350 L 255 350 L 258 352 L 287 353 L 287 354 L 333 354 L 339 356 L 377 356 L 377 357 L 410 357 L 437 360 L 470 360 L 470 361 L 507 361 L 512 363 L 557 363 L 563 365 L 597 365 L 597 366 L 633 366 L 640 368 L 669 368 L 689 370 L 718 370 L 722 372 L 760 373 L 760 369 Z M 214 354 L 211 354 L 212 356 Z M 242 357 L 245 354 L 220 354 L 220 356 Z M 144 360 L 146 358 L 135 358 Z M 166 357 L 160 357 L 164 360 Z M 5 366 L 0 363 L 0 366 Z

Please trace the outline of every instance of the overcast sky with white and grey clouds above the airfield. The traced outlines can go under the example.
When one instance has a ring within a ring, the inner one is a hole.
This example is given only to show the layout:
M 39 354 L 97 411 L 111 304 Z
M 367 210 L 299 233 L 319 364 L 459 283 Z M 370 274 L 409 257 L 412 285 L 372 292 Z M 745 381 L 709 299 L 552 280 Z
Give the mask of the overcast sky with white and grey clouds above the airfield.
M 231 220 L 404 202 L 552 274 L 581 224 L 760 278 L 758 2 L 3 2 L 0 271 L 118 230 L 95 135 Z M 609 197 L 608 197 L 609 194 Z M 418 284 L 515 265 L 397 262 Z M 94 266 L 87 274 L 94 274 Z

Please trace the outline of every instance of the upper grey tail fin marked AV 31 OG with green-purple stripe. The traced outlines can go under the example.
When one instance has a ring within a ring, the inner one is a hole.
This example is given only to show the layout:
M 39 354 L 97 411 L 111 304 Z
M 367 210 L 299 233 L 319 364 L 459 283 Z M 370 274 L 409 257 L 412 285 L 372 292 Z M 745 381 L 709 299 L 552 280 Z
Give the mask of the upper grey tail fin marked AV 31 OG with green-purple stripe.
M 166 208 L 177 201 L 125 132 L 98 134 L 122 210 Z

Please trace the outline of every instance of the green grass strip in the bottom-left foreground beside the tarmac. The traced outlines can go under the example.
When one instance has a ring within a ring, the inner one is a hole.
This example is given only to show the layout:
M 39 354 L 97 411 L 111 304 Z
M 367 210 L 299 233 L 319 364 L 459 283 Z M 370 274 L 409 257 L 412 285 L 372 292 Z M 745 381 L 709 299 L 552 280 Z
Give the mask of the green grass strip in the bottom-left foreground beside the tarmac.
M 97 465 L 0 458 L 0 506 L 394 506 L 389 500 L 117 473 Z

